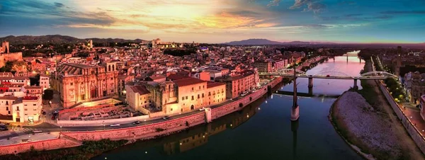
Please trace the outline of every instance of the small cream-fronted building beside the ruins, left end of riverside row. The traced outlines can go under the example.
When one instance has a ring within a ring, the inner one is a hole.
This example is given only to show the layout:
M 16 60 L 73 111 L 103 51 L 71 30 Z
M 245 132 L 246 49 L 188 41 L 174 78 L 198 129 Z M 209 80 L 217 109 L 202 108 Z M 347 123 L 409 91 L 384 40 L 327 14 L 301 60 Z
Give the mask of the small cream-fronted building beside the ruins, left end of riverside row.
M 145 86 L 125 86 L 125 91 L 125 98 L 131 108 L 143 113 L 142 108 L 149 110 L 152 107 L 152 93 Z

